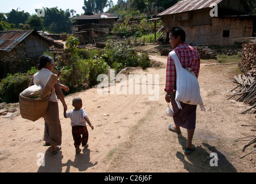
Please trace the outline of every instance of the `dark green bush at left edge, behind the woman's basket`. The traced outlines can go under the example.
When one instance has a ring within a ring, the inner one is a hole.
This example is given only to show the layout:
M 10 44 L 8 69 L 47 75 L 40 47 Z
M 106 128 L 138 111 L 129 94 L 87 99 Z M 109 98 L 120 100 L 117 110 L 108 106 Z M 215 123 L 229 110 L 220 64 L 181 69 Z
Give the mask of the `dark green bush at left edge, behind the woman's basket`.
M 8 74 L 0 83 L 0 102 L 16 103 L 22 91 L 27 89 L 32 74 Z

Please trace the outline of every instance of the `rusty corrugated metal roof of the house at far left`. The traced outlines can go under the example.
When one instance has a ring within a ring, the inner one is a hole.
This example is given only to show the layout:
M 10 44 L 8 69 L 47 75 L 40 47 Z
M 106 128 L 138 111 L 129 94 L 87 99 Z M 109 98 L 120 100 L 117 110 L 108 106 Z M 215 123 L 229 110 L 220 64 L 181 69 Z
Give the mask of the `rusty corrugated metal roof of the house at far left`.
M 6 30 L 0 32 L 0 51 L 11 51 L 33 30 Z

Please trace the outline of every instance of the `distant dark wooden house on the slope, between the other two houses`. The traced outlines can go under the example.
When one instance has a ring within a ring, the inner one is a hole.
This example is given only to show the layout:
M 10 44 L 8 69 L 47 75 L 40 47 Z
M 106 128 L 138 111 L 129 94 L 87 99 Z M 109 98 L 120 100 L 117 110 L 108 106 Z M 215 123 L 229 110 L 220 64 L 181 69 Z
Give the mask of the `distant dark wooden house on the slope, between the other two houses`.
M 81 44 L 96 44 L 101 37 L 111 32 L 112 27 L 118 20 L 118 17 L 110 13 L 92 14 L 87 13 L 73 18 L 73 34 Z

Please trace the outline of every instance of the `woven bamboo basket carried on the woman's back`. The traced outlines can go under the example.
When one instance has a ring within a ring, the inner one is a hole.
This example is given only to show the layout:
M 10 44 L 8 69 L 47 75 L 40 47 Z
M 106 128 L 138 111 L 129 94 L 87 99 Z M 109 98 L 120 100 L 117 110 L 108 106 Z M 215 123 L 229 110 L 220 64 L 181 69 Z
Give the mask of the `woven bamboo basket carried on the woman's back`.
M 31 121 L 38 120 L 46 114 L 48 102 L 49 98 L 33 99 L 23 97 L 20 94 L 19 104 L 21 117 Z

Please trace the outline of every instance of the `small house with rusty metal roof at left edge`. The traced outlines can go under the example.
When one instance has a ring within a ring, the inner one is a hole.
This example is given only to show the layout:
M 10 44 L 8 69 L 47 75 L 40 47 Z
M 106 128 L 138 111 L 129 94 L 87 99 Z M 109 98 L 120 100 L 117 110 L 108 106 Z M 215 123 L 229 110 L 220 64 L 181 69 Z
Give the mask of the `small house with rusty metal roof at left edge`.
M 0 32 L 0 78 L 7 72 L 16 73 L 16 64 L 28 58 L 38 58 L 54 43 L 36 30 L 6 30 Z M 12 65 L 11 65 L 12 64 Z

